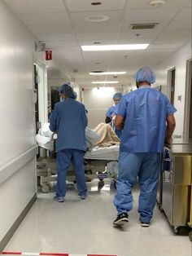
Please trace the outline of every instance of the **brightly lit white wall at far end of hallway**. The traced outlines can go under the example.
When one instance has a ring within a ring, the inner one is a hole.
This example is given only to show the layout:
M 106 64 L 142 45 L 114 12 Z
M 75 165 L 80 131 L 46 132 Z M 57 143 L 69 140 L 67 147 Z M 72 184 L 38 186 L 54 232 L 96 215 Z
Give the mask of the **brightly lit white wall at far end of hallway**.
M 88 126 L 94 128 L 100 122 L 105 122 L 105 114 L 107 109 L 113 104 L 112 96 L 116 92 L 121 92 L 120 89 L 110 87 L 105 90 L 105 87 L 84 89 L 82 98 L 85 108 L 88 110 Z

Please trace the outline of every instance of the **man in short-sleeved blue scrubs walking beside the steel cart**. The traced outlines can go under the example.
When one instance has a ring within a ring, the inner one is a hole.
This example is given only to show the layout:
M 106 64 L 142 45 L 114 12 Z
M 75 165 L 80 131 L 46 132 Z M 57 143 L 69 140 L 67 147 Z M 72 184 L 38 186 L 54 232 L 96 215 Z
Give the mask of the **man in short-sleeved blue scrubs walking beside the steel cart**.
M 151 88 L 155 83 L 155 73 L 151 68 L 140 68 L 134 78 L 137 90 L 122 97 L 115 120 L 116 127 L 123 128 L 123 133 L 113 201 L 117 217 L 113 224 L 122 226 L 129 221 L 128 212 L 133 208 L 132 188 L 138 177 L 137 211 L 142 227 L 149 227 L 155 208 L 160 153 L 164 144 L 171 144 L 176 108 L 165 95 Z

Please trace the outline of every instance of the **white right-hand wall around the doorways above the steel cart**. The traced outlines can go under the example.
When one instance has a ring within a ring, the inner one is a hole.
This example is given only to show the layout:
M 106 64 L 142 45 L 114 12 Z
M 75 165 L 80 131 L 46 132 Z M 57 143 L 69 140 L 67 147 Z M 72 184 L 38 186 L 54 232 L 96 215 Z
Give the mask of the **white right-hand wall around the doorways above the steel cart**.
M 156 85 L 162 86 L 163 92 L 168 95 L 167 86 L 167 74 L 168 69 L 176 68 L 176 80 L 175 80 L 175 99 L 174 106 L 177 108 L 175 113 L 177 126 L 174 135 L 183 136 L 184 129 L 184 117 L 185 117 L 185 70 L 186 61 L 191 58 L 191 45 L 190 42 L 182 46 L 181 49 L 174 54 L 168 56 L 163 62 L 154 68 L 156 73 Z M 181 101 L 177 99 L 178 95 L 181 95 Z

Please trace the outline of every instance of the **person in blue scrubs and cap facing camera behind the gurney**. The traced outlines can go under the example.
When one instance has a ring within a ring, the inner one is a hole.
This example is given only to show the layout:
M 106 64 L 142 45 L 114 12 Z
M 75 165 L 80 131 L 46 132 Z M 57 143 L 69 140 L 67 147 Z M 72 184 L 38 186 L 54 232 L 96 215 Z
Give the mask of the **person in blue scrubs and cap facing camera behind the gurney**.
M 106 113 L 106 123 L 110 123 L 112 129 L 115 131 L 117 137 L 120 139 L 120 135 L 122 134 L 121 129 L 116 129 L 114 125 L 114 117 L 116 116 L 116 109 L 118 107 L 118 104 L 120 102 L 120 99 L 122 98 L 122 94 L 120 92 L 117 92 L 115 95 L 113 95 L 112 99 L 114 101 L 114 105 L 112 105 L 110 108 L 108 108 Z

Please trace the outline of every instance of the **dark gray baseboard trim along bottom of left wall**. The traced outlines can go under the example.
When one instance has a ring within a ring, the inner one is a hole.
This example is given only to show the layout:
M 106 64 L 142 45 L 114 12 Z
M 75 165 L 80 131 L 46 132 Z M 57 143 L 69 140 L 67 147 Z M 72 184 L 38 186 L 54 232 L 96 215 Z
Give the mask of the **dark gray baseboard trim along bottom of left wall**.
M 37 199 L 37 193 L 35 193 L 35 195 L 29 201 L 28 205 L 24 208 L 20 216 L 15 220 L 15 223 L 13 223 L 10 230 L 2 238 L 2 241 L 0 241 L 0 254 L 2 253 L 2 250 L 6 247 L 8 242 L 11 240 L 11 237 L 15 233 L 16 229 L 20 226 L 20 223 L 23 221 L 24 217 L 28 214 L 28 211 L 31 209 L 36 199 Z

